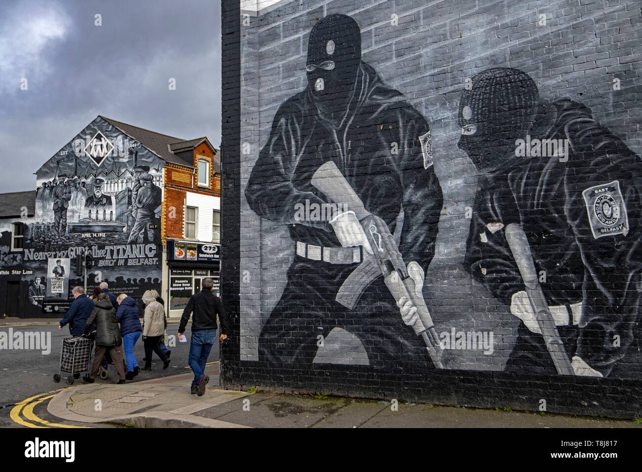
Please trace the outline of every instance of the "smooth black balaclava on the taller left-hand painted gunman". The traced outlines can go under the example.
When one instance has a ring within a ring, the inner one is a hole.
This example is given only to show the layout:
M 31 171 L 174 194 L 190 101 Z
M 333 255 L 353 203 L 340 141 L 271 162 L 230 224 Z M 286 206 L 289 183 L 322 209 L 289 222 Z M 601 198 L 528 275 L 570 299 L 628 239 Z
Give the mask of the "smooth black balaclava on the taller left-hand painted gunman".
M 315 24 L 308 41 L 308 86 L 328 118 L 345 114 L 361 64 L 361 30 L 346 15 L 329 15 Z

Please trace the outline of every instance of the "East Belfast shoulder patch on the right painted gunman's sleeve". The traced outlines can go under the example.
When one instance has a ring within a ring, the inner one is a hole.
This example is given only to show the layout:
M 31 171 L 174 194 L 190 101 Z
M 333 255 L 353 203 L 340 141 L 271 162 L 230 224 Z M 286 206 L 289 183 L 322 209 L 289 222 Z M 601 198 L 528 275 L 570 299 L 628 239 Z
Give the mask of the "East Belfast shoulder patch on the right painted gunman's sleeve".
M 629 218 L 618 180 L 589 187 L 582 195 L 594 238 L 627 235 Z

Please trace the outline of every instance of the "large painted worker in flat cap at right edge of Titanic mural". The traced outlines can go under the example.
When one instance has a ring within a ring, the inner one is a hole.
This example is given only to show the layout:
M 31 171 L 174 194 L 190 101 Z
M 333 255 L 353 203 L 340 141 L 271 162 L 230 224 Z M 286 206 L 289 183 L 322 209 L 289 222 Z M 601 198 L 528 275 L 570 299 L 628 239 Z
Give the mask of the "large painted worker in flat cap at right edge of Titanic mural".
M 162 190 L 153 184 L 153 176 L 142 173 L 136 191 L 135 223 L 129 234 L 130 243 L 152 243 L 158 237 Z

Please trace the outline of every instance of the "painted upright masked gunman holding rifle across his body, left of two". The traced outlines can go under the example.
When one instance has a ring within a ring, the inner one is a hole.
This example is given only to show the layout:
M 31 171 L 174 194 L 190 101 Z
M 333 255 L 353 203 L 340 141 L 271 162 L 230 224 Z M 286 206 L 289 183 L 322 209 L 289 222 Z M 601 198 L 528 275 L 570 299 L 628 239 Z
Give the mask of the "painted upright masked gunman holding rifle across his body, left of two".
M 288 226 L 296 254 L 259 358 L 311 363 L 318 336 L 338 327 L 370 365 L 440 367 L 421 295 L 442 207 L 428 123 L 361 61 L 351 17 L 317 22 L 307 64 L 308 86 L 277 111 L 245 190 L 259 216 Z

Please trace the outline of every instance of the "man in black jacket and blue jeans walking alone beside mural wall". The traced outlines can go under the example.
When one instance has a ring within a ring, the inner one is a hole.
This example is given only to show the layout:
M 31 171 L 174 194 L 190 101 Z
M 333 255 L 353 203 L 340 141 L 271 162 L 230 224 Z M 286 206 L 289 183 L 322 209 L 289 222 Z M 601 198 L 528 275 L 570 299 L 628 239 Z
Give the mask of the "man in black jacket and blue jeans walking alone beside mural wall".
M 187 321 L 192 313 L 192 340 L 189 344 L 189 367 L 194 372 L 191 393 L 203 396 L 205 394 L 205 385 L 209 382 L 209 377 L 205 375 L 205 363 L 212 350 L 214 339 L 216 338 L 216 315 L 221 321 L 221 335 L 219 340 L 227 339 L 227 317 L 223 310 L 223 302 L 212 293 L 214 280 L 211 278 L 203 279 L 203 289 L 195 293 L 187 302 L 183 315 L 180 317 L 180 326 L 178 327 L 178 339 L 182 340 L 183 333 L 187 326 Z

